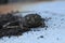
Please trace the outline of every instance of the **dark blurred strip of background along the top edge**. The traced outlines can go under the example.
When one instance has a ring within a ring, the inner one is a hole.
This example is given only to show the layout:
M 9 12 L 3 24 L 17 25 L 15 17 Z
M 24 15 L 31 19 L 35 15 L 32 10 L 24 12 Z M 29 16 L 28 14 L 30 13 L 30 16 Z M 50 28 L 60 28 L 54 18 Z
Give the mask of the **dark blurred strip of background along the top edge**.
M 14 2 L 35 2 L 35 1 L 52 1 L 52 0 L 0 0 L 0 4 L 14 3 Z

